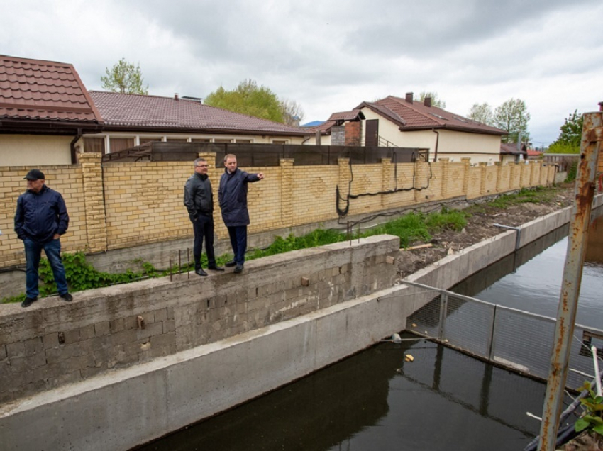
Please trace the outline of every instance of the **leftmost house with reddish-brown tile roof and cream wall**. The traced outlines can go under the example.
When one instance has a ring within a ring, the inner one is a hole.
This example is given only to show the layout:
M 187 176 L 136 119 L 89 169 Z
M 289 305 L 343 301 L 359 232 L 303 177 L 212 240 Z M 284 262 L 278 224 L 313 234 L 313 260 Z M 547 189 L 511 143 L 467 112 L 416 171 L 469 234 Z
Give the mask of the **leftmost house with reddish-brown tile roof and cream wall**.
M 65 62 L 0 55 L 0 165 L 69 165 L 102 119 Z

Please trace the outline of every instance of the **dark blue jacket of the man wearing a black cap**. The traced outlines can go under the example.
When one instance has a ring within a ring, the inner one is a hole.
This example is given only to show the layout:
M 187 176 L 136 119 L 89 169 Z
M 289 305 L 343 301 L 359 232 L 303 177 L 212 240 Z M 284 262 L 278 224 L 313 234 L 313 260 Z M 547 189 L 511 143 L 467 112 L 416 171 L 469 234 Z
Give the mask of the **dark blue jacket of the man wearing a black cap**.
M 38 194 L 26 191 L 17 199 L 15 232 L 19 239 L 48 243 L 55 233 L 67 232 L 68 226 L 65 201 L 54 189 L 44 185 Z

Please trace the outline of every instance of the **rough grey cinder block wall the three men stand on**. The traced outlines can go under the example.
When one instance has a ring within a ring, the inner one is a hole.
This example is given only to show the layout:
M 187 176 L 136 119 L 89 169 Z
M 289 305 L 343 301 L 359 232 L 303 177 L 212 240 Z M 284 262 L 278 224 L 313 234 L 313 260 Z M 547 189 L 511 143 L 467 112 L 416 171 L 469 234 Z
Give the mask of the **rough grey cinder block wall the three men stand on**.
M 253 260 L 243 274 L 177 274 L 0 309 L 0 403 L 214 343 L 394 283 L 388 235 Z

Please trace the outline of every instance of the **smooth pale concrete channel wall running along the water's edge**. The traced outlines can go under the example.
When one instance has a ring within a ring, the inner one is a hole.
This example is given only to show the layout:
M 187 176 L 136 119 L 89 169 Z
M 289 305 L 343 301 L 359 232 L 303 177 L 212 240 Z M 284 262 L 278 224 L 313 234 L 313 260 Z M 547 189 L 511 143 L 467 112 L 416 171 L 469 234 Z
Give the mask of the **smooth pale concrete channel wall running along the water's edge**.
M 594 208 L 603 205 L 603 196 Z M 599 208 L 599 212 L 603 210 Z M 523 246 L 572 208 L 519 228 Z M 412 274 L 448 289 L 516 250 L 508 230 Z M 128 450 L 311 374 L 403 330 L 430 299 L 395 285 L 0 408 L 0 449 Z

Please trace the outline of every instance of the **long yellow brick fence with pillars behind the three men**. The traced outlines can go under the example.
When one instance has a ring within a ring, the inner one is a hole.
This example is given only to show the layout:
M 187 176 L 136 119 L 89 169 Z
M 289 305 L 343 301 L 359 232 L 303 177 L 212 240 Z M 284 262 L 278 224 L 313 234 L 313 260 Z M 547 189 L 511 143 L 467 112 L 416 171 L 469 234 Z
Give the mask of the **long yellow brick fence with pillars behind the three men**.
M 200 154 L 209 162 L 214 185 L 218 239 L 228 236 L 217 208 L 218 181 L 223 169 L 215 154 Z M 23 243 L 13 232 L 16 199 L 25 190 L 23 177 L 31 167 L 0 167 L 0 268 L 23 265 Z M 114 162 L 101 164 L 101 155 L 80 155 L 79 165 L 45 166 L 47 184 L 65 197 L 70 228 L 62 239 L 67 252 L 87 253 L 162 243 L 192 235 L 182 204 L 183 186 L 192 162 Z M 426 201 L 465 196 L 475 199 L 527 186 L 553 182 L 555 167 L 529 165 L 471 166 L 468 158 L 450 162 L 296 166 L 292 159 L 278 167 L 247 167 L 263 172 L 265 180 L 250 185 L 250 233 L 319 224 L 337 219 L 336 187 L 350 194 L 395 191 L 350 199 L 350 216 L 404 208 Z M 352 180 L 351 185 L 349 184 Z M 413 189 L 414 188 L 414 189 Z M 396 190 L 397 189 L 397 190 Z M 343 200 L 345 206 L 345 199 Z

